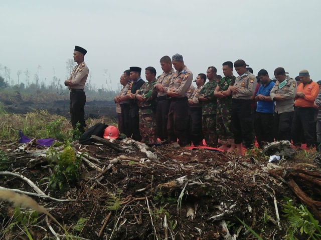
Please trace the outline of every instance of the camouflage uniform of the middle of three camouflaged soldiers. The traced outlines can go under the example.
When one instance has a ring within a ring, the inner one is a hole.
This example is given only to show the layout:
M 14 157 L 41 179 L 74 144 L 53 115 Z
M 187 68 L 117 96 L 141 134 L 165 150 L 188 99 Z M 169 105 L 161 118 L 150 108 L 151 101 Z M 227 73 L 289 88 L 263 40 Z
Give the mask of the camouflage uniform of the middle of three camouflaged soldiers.
M 217 80 L 207 82 L 199 93 L 199 97 L 203 96 L 208 99 L 202 101 L 202 130 L 206 145 L 212 147 L 216 147 L 218 144 L 216 133 L 217 98 L 214 96 L 217 83 Z

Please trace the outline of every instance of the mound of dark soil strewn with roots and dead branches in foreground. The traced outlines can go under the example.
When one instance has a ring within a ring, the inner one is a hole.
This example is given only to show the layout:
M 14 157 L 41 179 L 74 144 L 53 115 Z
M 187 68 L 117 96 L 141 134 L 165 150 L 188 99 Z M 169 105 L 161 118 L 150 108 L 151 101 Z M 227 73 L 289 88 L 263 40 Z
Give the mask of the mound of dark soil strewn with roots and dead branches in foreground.
M 95 164 L 108 170 L 97 179 L 101 171 L 82 162 L 79 181 L 62 192 L 49 189 L 46 181 L 39 184 L 51 171 L 45 160 L 30 165 L 30 159 L 35 158 L 31 154 L 35 147 L 18 156 L 13 150 L 19 144 L 5 147 L 5 143 L 2 142 L 1 149 L 8 152 L 11 161 L 7 171 L 28 177 L 50 196 L 73 199 L 57 202 L 33 196 L 65 225 L 70 234 L 86 239 L 233 239 L 228 238 L 229 234 L 237 234 L 234 239 L 255 239 L 237 217 L 263 239 L 281 239 L 287 229 L 286 219 L 282 217 L 282 199 L 287 196 L 299 202 L 287 184 L 264 171 L 268 161 L 262 156 L 238 156 L 203 148 L 177 149 L 164 145 L 148 149 L 157 156 L 157 159 L 150 160 L 136 144 L 124 140 L 114 143 L 125 146 L 125 152 L 103 144 L 74 142 L 76 150 L 88 152 L 101 161 Z M 110 164 L 110 160 L 116 157 L 118 161 Z M 281 167 L 300 164 L 301 159 L 295 157 L 278 162 Z M 279 174 L 282 175 L 282 171 Z M 0 175 L 0 179 L 3 187 L 34 192 L 17 177 Z M 281 215 L 280 226 L 276 223 L 273 195 Z M 12 221 L 10 211 L 9 202 L 0 205 L 0 222 Z M 188 217 L 188 212 L 192 212 L 192 216 Z M 270 220 L 264 220 L 267 215 Z M 55 239 L 44 214 L 39 216 L 37 224 L 28 225 L 33 239 Z M 79 232 L 74 226 L 81 217 L 87 221 Z M 223 226 L 224 222 L 227 228 Z M 58 234 L 64 234 L 55 222 L 50 224 Z M 10 235 L 12 232 L 16 235 Z M 28 239 L 18 227 L 6 234 L 0 239 Z M 304 237 L 301 239 L 306 239 Z

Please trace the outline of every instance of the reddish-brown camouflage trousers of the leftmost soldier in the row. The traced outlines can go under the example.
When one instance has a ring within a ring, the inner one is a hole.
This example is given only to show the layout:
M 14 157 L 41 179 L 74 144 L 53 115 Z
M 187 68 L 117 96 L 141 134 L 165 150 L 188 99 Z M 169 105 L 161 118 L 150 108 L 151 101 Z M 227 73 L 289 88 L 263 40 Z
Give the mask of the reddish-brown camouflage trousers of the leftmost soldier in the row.
M 155 114 L 139 114 L 139 131 L 143 143 L 157 143 Z

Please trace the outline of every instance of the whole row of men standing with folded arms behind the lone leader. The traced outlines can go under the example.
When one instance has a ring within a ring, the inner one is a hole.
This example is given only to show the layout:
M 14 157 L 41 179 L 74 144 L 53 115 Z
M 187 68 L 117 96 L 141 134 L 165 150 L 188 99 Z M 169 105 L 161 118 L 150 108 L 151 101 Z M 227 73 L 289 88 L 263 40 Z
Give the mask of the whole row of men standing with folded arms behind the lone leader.
M 264 69 L 256 77 L 242 59 L 234 64 L 226 61 L 222 64 L 223 78 L 218 78 L 216 67 L 210 66 L 206 75 L 197 75 L 197 88 L 193 89 L 193 73 L 181 54 L 172 59 L 164 56 L 160 63 L 164 72 L 157 79 L 151 66 L 145 68 L 147 82 L 140 76 L 140 67 L 130 67 L 121 75 L 123 88 L 114 100 L 119 129 L 128 137 L 149 145 L 156 144 L 157 137 L 163 144 L 179 139 L 180 146 L 191 142 L 201 145 L 205 138 L 208 146 L 217 147 L 220 142 L 221 149 L 231 145 L 228 151 L 236 148 L 240 154 L 242 142 L 246 148 L 253 147 L 255 135 L 260 147 L 274 139 L 291 138 L 299 145 L 302 136 L 307 146 L 315 143 L 315 124 L 307 116 L 312 112 L 313 121 L 319 88 L 307 70 L 300 71 L 302 89 L 297 90 L 296 80 L 282 67 L 275 69 L 274 82 Z M 233 75 L 233 67 L 238 77 Z

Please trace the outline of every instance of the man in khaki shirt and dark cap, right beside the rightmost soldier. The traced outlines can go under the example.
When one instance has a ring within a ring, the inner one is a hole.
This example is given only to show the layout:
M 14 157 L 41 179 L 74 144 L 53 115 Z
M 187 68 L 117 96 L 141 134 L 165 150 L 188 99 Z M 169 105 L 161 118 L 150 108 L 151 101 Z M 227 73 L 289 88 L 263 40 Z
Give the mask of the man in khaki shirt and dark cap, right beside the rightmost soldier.
M 253 147 L 253 124 L 251 117 L 251 97 L 257 84 L 256 77 L 246 69 L 249 66 L 244 60 L 234 62 L 234 68 L 239 74 L 234 85 L 229 89 L 232 93 L 231 126 L 237 153 L 242 154 L 242 141 L 246 148 Z

